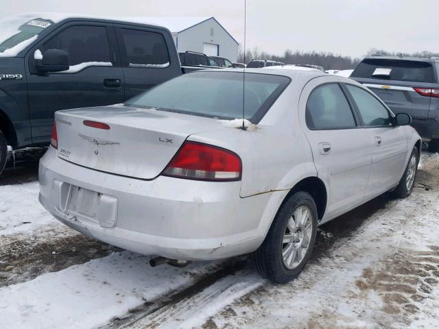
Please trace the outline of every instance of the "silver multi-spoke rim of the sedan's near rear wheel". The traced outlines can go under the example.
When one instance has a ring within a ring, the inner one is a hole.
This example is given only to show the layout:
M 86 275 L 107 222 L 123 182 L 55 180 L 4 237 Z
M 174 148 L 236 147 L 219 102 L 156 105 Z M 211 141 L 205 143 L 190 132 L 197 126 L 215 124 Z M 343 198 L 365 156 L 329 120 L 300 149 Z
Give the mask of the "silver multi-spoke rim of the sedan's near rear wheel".
M 289 218 L 282 239 L 283 265 L 295 269 L 307 254 L 313 232 L 311 209 L 299 206 Z

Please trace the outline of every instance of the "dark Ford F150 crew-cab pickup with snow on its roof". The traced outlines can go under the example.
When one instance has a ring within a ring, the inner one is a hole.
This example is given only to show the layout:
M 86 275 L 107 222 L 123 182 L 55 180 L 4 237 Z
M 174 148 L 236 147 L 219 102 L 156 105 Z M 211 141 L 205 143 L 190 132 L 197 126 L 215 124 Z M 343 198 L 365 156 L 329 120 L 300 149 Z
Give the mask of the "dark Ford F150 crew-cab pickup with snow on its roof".
M 7 145 L 49 144 L 55 111 L 122 103 L 182 73 L 165 27 L 55 13 L 1 20 L 0 173 Z

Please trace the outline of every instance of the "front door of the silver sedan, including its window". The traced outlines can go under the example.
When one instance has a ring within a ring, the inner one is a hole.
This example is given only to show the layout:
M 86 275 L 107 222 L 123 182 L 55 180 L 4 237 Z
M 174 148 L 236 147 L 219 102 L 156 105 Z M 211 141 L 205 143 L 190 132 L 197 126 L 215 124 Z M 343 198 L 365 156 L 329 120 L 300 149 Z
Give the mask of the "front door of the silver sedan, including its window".
M 365 88 L 346 84 L 359 113 L 360 124 L 372 145 L 372 170 L 366 197 L 392 188 L 401 179 L 407 158 L 407 136 L 403 127 L 392 124 L 390 110 Z

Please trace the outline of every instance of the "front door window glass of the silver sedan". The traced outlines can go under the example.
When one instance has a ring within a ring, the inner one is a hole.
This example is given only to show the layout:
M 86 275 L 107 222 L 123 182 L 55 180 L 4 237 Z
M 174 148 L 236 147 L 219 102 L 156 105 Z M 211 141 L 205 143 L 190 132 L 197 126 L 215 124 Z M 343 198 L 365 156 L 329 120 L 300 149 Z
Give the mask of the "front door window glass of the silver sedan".
M 390 125 L 390 116 L 388 110 L 381 102 L 366 90 L 346 84 L 351 93 L 357 108 L 361 114 L 364 125 L 381 126 Z

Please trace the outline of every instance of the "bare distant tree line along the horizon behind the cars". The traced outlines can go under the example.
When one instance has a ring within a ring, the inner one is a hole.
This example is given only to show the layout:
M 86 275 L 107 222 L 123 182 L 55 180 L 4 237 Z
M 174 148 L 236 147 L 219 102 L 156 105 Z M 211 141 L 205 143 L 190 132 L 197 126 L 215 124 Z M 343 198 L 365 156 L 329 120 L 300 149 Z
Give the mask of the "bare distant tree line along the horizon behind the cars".
M 439 53 L 432 53 L 430 51 L 419 51 L 416 53 L 398 53 L 392 51 L 385 51 L 383 49 L 370 49 L 366 55 L 380 55 L 380 56 L 413 56 L 422 58 L 431 58 L 432 56 L 439 57 Z M 257 47 L 254 49 L 244 51 L 239 49 L 238 62 L 246 63 L 251 60 L 276 60 L 277 62 L 283 62 L 285 64 L 312 64 L 323 66 L 326 70 L 347 70 L 354 69 L 360 62 L 361 58 L 352 58 L 350 56 L 337 55 L 334 53 L 323 51 L 292 51 L 287 49 L 281 56 L 273 55 L 265 51 L 259 50 Z

